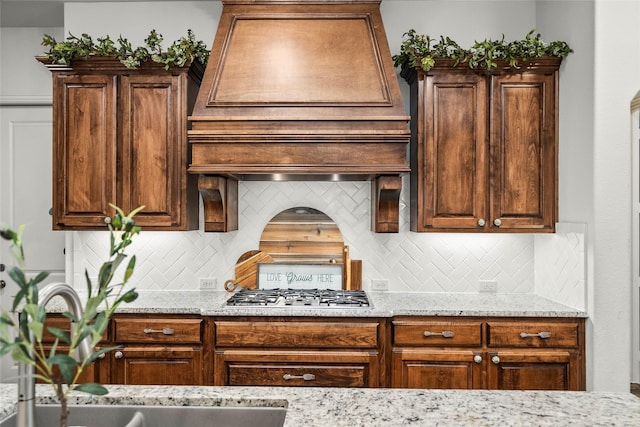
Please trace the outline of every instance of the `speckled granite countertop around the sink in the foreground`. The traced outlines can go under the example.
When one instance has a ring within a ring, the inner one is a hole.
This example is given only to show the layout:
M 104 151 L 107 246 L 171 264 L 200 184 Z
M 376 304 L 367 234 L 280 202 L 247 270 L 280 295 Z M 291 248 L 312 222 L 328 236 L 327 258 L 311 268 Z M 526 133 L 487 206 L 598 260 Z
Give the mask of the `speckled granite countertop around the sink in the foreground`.
M 311 387 L 107 386 L 106 396 L 72 394 L 71 404 L 286 407 L 286 427 L 638 426 L 631 393 L 411 390 Z M 0 420 L 15 411 L 17 387 L 0 384 Z M 38 385 L 38 403 L 54 403 Z M 117 427 L 117 426 L 116 426 Z

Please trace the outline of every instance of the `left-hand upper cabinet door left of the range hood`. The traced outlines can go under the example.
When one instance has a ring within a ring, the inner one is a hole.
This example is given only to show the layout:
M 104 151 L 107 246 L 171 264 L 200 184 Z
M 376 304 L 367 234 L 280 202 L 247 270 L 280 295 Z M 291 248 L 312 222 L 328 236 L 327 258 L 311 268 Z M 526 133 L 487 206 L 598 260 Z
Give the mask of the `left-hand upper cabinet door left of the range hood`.
M 114 76 L 53 79 L 53 228 L 104 227 L 116 195 Z

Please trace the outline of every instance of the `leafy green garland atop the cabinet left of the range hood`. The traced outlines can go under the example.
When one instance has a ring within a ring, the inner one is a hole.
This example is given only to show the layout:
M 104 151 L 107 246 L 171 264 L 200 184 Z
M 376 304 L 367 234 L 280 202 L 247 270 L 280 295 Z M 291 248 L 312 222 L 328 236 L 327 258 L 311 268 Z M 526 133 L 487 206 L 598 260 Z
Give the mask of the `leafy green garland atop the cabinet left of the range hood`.
M 45 57 L 53 64 L 70 66 L 75 59 L 88 59 L 92 56 L 115 56 L 129 69 L 136 69 L 146 61 L 164 64 L 168 70 L 171 67 L 183 67 L 197 60 L 203 65 L 209 59 L 209 49 L 201 40 L 195 39 L 191 30 L 186 37 L 174 41 L 166 50 L 162 48 L 162 34 L 155 29 L 144 40 L 144 46 L 133 47 L 131 42 L 122 36 L 114 42 L 107 35 L 99 37 L 94 42 L 88 34 L 76 37 L 69 33 L 65 41 L 58 42 L 55 38 L 45 34 L 42 46 L 48 47 Z

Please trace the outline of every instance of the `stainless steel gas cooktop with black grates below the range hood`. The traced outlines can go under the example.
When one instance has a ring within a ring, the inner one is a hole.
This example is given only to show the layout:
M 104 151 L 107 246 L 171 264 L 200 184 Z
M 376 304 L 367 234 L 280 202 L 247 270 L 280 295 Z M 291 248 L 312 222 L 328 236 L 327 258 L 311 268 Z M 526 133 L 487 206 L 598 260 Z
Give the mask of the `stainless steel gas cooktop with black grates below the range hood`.
M 370 308 L 362 290 L 241 289 L 227 300 L 228 307 Z

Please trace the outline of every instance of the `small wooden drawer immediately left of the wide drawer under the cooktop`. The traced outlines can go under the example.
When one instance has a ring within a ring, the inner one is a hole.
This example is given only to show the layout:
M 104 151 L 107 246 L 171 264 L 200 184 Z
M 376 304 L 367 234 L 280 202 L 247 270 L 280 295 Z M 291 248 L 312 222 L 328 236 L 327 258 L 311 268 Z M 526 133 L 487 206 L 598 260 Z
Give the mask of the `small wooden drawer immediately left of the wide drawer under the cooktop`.
M 199 344 L 201 319 L 122 319 L 114 318 L 114 336 L 118 343 Z

